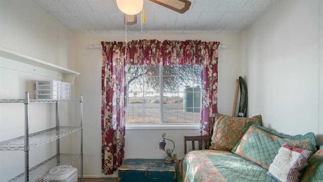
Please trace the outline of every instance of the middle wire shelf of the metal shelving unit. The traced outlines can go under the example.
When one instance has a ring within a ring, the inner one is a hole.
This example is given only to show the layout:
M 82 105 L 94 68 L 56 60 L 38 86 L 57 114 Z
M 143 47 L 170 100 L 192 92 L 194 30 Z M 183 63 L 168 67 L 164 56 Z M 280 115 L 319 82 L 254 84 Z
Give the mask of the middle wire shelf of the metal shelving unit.
M 49 128 L 43 131 L 35 132 L 28 135 L 29 138 L 29 149 L 46 144 L 48 142 L 62 138 L 65 135 L 76 132 L 82 129 L 79 126 L 60 126 Z M 24 150 L 25 148 L 25 136 L 10 139 L 7 141 L 0 142 L 1 150 Z

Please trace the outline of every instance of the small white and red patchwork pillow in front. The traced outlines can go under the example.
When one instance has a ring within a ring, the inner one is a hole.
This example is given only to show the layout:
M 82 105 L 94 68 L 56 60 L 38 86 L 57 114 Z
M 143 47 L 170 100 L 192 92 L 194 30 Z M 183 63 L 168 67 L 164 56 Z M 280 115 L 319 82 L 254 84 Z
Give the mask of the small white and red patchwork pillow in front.
M 308 164 L 308 159 L 311 156 L 311 151 L 298 149 L 285 143 L 269 166 L 267 174 L 277 181 L 298 181 L 301 175 L 300 171 Z

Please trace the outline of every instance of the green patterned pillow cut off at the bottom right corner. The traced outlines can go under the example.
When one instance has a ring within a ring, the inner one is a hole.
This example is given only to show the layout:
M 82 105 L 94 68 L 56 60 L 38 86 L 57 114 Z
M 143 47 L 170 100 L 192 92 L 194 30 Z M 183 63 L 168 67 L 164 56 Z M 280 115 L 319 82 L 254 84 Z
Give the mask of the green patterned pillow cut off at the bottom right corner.
M 323 148 L 318 150 L 310 159 L 303 171 L 300 182 L 323 181 Z

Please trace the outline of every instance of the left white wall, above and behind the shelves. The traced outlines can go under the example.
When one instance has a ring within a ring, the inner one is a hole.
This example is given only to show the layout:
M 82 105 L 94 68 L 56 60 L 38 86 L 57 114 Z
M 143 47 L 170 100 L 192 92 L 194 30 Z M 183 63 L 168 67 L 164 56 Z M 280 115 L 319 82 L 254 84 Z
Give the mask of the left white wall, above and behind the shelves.
M 73 70 L 74 34 L 30 1 L 0 1 L 0 47 Z M 60 80 L 58 75 L 62 76 L 57 71 L 0 56 L 0 98 L 23 99 L 25 92 L 29 92 L 34 99 L 34 80 Z M 31 104 L 30 133 L 55 126 L 53 111 L 52 104 Z M 24 104 L 0 104 L 0 141 L 21 135 L 24 135 Z M 73 136 L 62 140 L 63 151 L 70 150 L 65 141 L 71 140 Z M 30 166 L 54 154 L 55 145 L 51 143 L 31 149 Z M 8 181 L 22 172 L 23 151 L 0 151 L 0 181 Z

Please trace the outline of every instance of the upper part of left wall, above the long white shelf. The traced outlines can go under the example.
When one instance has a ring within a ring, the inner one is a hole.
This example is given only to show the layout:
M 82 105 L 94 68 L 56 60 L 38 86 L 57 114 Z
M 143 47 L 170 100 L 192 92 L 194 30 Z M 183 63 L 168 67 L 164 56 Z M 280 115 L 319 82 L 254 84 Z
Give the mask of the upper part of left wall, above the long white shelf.
M 73 33 L 30 1 L 0 3 L 1 47 L 73 69 Z

